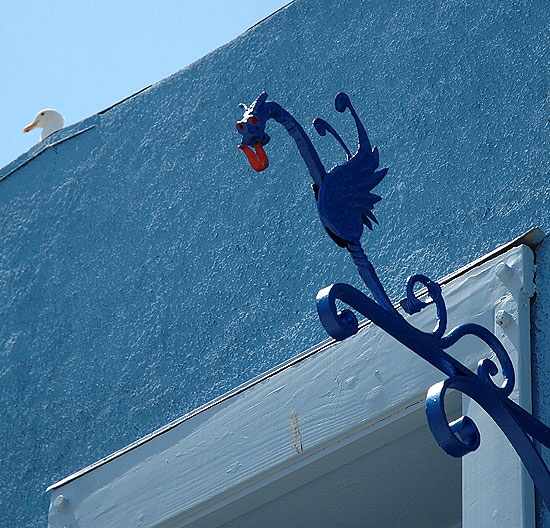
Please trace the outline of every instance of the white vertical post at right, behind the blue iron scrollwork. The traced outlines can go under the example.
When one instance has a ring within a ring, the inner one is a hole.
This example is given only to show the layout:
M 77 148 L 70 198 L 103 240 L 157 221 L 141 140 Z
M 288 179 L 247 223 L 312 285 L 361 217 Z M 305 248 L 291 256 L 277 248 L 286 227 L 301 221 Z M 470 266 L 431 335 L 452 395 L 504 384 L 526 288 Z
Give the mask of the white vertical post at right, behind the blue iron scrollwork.
M 511 399 L 531 411 L 533 253 L 520 246 L 500 261 L 509 266 L 499 265 L 502 283 L 509 291 L 495 304 L 492 330 L 514 365 L 516 385 Z M 499 311 L 511 318 L 502 317 Z M 497 324 L 497 320 L 504 320 L 504 325 Z M 474 420 L 481 432 L 479 449 L 462 459 L 463 528 L 534 528 L 534 486 L 519 456 L 491 418 L 467 397 L 463 398 L 463 413 Z

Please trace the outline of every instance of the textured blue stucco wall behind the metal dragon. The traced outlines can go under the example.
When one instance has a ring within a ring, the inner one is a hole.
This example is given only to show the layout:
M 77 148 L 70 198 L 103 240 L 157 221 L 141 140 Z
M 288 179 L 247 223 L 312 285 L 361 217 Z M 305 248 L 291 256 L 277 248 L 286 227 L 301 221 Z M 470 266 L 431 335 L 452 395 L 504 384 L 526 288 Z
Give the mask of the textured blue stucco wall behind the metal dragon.
M 350 94 L 390 167 L 363 242 L 392 298 L 411 272 L 550 233 L 547 13 L 296 0 L 0 171 L 0 524 L 44 526 L 49 484 L 324 339 L 317 291 L 358 284 L 280 126 L 271 167 L 248 168 L 239 102 L 266 90 L 308 131 L 320 116 L 355 141 L 332 103 Z M 533 334 L 548 422 L 547 284 Z

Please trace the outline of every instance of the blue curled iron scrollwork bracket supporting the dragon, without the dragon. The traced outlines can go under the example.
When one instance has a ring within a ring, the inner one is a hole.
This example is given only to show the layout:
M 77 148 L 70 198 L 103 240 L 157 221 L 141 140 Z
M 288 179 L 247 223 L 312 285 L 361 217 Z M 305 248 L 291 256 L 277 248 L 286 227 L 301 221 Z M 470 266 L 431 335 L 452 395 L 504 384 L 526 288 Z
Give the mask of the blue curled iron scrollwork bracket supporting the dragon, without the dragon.
M 416 298 L 414 285 L 417 283 L 426 286 L 428 299 Z M 445 394 L 453 389 L 472 398 L 491 416 L 519 454 L 543 500 L 550 507 L 550 472 L 530 438 L 550 447 L 550 429 L 508 398 L 514 387 L 514 368 L 506 349 L 492 332 L 481 325 L 466 323 L 443 335 L 447 314 L 441 288 L 423 275 L 409 279 L 407 298 L 401 302 L 401 306 L 408 313 L 418 313 L 435 304 L 438 321 L 433 332 L 414 328 L 397 310 L 387 310 L 352 286 L 339 283 L 322 289 L 317 295 L 321 323 L 329 335 L 337 340 L 357 333 L 359 323 L 352 310 L 339 310 L 336 301 L 361 313 L 449 376 L 432 386 L 426 396 L 426 416 L 430 430 L 446 453 L 462 457 L 475 451 L 481 441 L 479 430 L 470 417 L 462 416 L 453 421 L 447 419 Z M 487 345 L 498 359 L 500 371 L 499 366 L 486 357 L 479 361 L 474 373 L 445 352 L 445 349 L 467 335 L 475 336 Z M 497 385 L 493 378 L 499 372 L 503 381 Z

